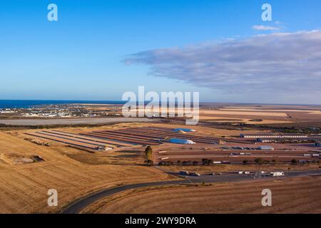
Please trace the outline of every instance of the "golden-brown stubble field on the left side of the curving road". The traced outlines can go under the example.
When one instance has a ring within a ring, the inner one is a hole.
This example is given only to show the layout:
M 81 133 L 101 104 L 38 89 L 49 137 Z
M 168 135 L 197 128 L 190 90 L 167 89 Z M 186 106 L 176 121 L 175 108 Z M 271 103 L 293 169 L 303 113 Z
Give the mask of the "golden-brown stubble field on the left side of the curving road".
M 80 150 L 36 145 L 0 132 L 0 213 L 58 212 L 65 204 L 101 188 L 165 180 L 168 175 L 139 165 L 88 165 L 68 157 Z M 86 152 L 83 152 L 86 153 Z M 17 157 L 38 155 L 43 162 L 16 164 Z M 58 207 L 47 205 L 47 191 L 58 191 Z

